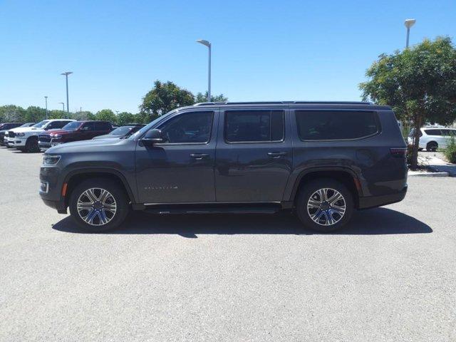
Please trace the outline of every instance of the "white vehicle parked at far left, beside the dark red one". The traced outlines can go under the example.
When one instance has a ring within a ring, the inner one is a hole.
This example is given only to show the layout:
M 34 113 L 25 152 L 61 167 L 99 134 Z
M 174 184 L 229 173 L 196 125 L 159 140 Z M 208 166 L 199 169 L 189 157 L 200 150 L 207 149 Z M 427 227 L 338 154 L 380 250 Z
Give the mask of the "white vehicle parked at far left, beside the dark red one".
M 45 130 L 53 130 L 62 128 L 67 123 L 71 123 L 71 119 L 53 119 L 43 120 L 31 127 L 14 128 L 8 131 L 8 146 L 16 147 L 18 150 L 25 152 L 39 152 L 38 134 Z

